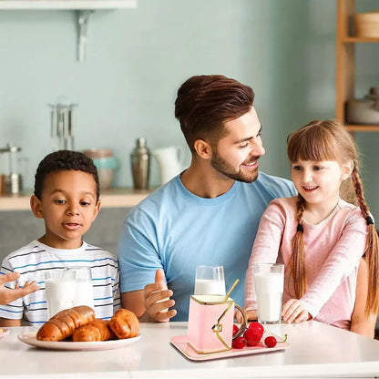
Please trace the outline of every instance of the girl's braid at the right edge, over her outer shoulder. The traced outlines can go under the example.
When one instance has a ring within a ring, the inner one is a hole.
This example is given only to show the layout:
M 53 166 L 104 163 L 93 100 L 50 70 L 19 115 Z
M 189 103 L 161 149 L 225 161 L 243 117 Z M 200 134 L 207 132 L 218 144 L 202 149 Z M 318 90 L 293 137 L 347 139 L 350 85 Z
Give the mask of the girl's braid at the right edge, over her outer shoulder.
M 367 222 L 367 238 L 364 251 L 364 259 L 367 261 L 368 265 L 369 282 L 364 311 L 366 314 L 370 314 L 377 312 L 379 307 L 379 239 L 374 223 L 372 223 L 367 203 L 364 200 L 364 188 L 362 186 L 356 165 L 354 165 L 352 179 L 355 188 L 357 204 L 361 209 L 364 220 Z M 371 222 L 369 222 L 368 218 L 370 218 Z

